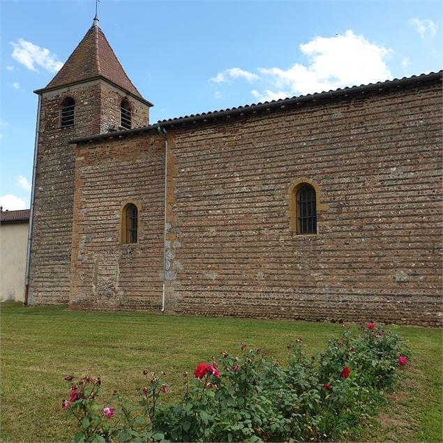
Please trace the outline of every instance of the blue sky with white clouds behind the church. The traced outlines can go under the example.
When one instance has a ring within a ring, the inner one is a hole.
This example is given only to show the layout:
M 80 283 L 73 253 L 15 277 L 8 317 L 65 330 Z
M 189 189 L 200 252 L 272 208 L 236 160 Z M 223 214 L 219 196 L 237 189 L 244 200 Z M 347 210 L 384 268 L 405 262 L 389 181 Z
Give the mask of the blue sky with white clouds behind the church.
M 0 0 L 0 204 L 29 207 L 37 96 L 92 24 L 95 0 Z M 159 119 L 442 68 L 442 3 L 119 1 L 100 27 Z

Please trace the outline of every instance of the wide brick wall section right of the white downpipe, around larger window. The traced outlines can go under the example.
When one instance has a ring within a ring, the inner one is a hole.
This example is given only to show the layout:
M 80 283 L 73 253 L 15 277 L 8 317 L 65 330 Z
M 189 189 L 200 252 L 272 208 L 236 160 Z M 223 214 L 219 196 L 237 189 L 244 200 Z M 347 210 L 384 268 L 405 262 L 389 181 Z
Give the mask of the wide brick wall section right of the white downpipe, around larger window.
M 442 324 L 441 84 L 169 133 L 167 312 Z

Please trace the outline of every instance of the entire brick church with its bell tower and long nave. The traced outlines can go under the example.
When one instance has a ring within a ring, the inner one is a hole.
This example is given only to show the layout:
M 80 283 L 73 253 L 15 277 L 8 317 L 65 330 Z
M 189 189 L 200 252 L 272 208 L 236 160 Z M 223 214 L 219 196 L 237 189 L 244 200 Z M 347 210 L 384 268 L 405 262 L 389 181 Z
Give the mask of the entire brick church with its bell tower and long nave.
M 27 304 L 442 325 L 442 71 L 151 124 L 96 18 L 36 93 Z

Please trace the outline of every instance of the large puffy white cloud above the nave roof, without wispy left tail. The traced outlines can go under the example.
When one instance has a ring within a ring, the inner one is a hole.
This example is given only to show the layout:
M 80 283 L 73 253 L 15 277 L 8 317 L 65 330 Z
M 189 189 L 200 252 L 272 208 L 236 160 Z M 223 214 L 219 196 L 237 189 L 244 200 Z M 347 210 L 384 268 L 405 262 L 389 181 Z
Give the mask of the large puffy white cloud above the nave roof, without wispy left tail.
M 380 82 L 392 78 L 384 58 L 391 52 L 370 43 L 353 31 L 344 36 L 315 37 L 300 45 L 308 57 L 308 66 L 295 63 L 291 68 L 259 68 L 259 72 L 278 89 L 290 95 L 314 93 Z

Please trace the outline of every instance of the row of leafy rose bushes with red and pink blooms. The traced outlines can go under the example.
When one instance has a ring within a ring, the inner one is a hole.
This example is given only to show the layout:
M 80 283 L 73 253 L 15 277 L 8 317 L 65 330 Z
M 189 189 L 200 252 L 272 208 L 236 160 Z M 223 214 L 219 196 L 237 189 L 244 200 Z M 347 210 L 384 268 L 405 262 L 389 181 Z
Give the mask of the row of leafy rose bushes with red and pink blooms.
M 168 386 L 144 370 L 137 404 L 114 392 L 115 408 L 98 406 L 100 378 L 86 376 L 62 407 L 78 422 L 75 442 L 340 440 L 373 414 L 410 357 L 396 333 L 374 324 L 356 337 L 345 329 L 316 356 L 306 357 L 300 340 L 287 349 L 287 366 L 244 344 L 240 356 L 200 363 L 193 377 L 183 373 L 177 405 L 160 404 Z

